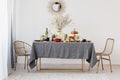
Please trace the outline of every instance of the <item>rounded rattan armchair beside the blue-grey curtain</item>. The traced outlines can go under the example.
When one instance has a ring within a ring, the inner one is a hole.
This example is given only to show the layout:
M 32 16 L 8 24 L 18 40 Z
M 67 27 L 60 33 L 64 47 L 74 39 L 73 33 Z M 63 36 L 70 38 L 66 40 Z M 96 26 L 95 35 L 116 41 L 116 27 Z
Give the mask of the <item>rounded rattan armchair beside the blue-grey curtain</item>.
M 14 66 L 15 70 L 16 70 L 16 65 L 17 65 L 17 57 L 24 56 L 25 57 L 24 69 L 27 68 L 27 70 L 29 71 L 28 56 L 30 56 L 31 45 L 23 41 L 14 41 L 14 50 L 16 53 L 16 62 Z

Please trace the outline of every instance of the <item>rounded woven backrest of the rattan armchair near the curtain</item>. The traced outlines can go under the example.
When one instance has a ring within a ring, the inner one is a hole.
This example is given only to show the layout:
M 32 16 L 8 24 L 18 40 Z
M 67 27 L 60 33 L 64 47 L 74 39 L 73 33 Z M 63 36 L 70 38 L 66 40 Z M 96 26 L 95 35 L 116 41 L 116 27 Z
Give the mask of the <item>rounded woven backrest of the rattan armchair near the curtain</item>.
M 16 55 L 24 55 L 30 51 L 31 46 L 23 41 L 14 41 L 14 49 Z

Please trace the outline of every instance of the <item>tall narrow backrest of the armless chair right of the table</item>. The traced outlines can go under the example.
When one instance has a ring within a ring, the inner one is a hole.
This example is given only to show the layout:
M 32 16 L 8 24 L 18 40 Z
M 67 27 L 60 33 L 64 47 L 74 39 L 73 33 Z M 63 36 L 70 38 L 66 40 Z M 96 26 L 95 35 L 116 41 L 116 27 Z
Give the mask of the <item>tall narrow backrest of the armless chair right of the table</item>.
M 105 44 L 103 54 L 111 54 L 112 51 L 113 51 L 113 47 L 114 47 L 114 39 L 113 38 L 108 38 L 106 40 L 106 44 Z

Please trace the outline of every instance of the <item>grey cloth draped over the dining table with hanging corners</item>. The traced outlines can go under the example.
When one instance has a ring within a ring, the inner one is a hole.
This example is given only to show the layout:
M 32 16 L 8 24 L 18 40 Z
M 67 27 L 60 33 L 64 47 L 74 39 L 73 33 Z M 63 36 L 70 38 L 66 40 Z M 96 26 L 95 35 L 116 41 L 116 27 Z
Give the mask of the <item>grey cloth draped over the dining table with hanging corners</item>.
M 41 58 L 86 59 L 90 66 L 97 63 L 93 43 L 85 42 L 33 42 L 30 54 L 30 68 L 34 68 L 35 60 Z

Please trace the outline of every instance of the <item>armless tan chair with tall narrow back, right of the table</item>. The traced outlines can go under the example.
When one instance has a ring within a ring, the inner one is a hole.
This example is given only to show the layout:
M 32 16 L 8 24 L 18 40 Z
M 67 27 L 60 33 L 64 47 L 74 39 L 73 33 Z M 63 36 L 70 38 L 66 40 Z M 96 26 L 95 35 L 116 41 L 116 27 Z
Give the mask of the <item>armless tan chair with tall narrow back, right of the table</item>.
M 104 70 L 103 60 L 108 60 L 109 61 L 110 71 L 112 72 L 112 63 L 111 63 L 111 57 L 110 57 L 110 55 L 112 54 L 113 46 L 114 46 L 114 39 L 108 38 L 106 40 L 106 44 L 105 44 L 105 48 L 104 48 L 103 52 L 96 53 L 96 55 L 99 57 L 99 59 L 98 59 L 98 65 L 97 65 L 97 73 L 98 73 L 100 62 L 101 62 L 102 70 Z

